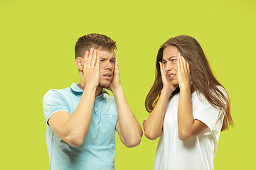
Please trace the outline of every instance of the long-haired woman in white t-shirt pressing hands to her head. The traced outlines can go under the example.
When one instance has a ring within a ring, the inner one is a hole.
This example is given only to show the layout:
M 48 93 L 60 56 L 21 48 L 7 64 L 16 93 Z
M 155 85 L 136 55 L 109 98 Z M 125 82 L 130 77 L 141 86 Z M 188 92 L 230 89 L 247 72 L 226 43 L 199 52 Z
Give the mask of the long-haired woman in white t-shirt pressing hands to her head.
M 154 169 L 213 169 L 220 131 L 233 120 L 228 94 L 196 39 L 180 35 L 161 45 L 145 107 L 146 137 L 161 136 Z

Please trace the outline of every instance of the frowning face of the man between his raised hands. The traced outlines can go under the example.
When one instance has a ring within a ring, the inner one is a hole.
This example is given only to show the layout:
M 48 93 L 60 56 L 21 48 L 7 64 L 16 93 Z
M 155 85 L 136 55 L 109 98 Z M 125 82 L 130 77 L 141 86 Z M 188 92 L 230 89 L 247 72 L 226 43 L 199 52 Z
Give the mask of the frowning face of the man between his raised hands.
M 114 50 L 97 50 L 100 57 L 100 84 L 102 88 L 109 88 L 114 77 Z

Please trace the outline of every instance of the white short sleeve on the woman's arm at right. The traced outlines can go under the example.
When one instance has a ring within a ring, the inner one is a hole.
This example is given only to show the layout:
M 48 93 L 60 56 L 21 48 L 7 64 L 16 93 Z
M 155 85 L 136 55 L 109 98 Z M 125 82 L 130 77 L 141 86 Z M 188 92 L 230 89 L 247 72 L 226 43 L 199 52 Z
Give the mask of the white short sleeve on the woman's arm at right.
M 208 126 L 208 128 L 204 130 L 202 134 L 209 135 L 213 131 L 215 123 L 218 121 L 218 118 L 220 118 L 220 111 L 217 108 L 211 106 L 206 98 L 201 97 L 201 99 L 196 99 L 197 102 L 195 106 L 196 108 L 193 111 L 193 117 L 194 119 L 200 120 Z

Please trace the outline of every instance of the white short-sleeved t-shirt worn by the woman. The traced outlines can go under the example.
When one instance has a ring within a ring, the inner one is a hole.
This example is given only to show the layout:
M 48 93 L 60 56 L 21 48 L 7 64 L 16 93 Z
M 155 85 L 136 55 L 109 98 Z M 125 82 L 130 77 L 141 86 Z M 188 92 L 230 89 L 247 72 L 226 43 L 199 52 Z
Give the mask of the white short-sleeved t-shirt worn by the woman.
M 208 128 L 189 141 L 178 139 L 178 97 L 169 102 L 164 117 L 163 132 L 156 149 L 154 170 L 213 169 L 224 114 L 206 101 L 203 94 L 191 94 L 194 119 Z

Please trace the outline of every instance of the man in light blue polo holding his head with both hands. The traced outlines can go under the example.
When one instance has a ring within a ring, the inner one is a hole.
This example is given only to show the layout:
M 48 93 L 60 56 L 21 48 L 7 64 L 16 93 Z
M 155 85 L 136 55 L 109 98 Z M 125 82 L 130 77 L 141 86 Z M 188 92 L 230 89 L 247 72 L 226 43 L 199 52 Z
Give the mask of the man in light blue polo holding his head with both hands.
M 82 36 L 75 45 L 80 83 L 43 97 L 50 169 L 114 169 L 115 130 L 127 147 L 139 145 L 142 128 L 124 97 L 114 50 L 106 35 Z

